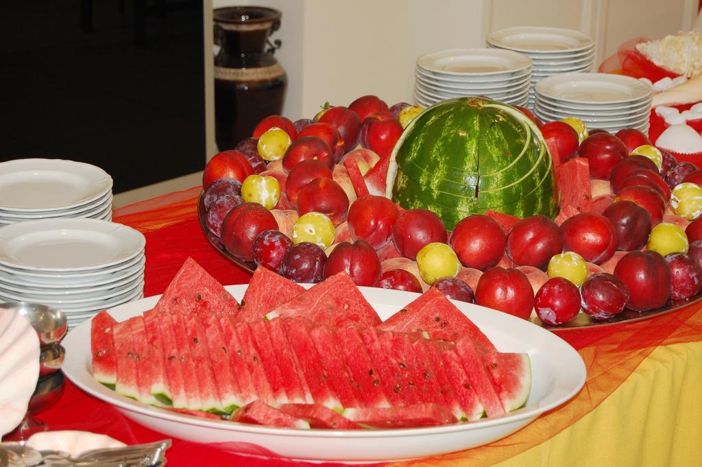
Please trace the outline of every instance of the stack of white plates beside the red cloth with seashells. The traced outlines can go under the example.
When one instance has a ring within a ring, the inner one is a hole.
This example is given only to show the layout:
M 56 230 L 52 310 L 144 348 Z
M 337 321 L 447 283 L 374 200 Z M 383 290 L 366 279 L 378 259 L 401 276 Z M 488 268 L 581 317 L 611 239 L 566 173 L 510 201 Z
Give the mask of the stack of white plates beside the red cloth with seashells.
M 543 121 L 577 117 L 589 129 L 610 133 L 649 129 L 653 88 L 632 77 L 607 73 L 559 74 L 538 81 L 534 114 Z

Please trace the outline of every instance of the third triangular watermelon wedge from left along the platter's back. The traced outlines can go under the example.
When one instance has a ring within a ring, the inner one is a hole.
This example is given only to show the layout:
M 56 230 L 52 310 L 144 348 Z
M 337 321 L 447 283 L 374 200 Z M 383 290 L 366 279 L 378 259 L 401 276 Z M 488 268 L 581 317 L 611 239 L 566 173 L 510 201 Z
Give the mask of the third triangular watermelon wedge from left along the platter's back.
M 346 324 L 376 326 L 380 318 L 345 272 L 327 277 L 266 317 L 301 316 L 317 324 L 340 327 Z

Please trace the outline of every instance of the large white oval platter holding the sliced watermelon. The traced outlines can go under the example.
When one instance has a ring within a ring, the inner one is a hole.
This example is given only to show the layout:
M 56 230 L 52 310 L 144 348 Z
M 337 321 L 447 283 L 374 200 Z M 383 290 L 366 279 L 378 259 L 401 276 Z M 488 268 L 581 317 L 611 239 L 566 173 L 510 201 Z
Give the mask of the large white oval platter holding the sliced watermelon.
M 372 287 L 362 293 L 385 320 L 418 294 Z M 227 286 L 241 300 L 246 285 Z M 159 296 L 110 310 L 116 320 L 142 314 L 156 305 Z M 113 404 L 125 416 L 165 435 L 194 442 L 237 442 L 243 454 L 258 445 L 292 459 L 324 461 L 384 461 L 434 456 L 477 447 L 503 438 L 528 425 L 537 416 L 574 397 L 585 383 L 585 364 L 574 348 L 561 338 L 531 324 L 478 305 L 454 302 L 495 346 L 503 352 L 528 353 L 532 367 L 531 395 L 527 406 L 507 416 L 430 428 L 397 430 L 301 430 L 255 426 L 202 419 L 150 407 L 121 396 L 95 381 L 91 366 L 91 322 L 69 331 L 65 375 L 79 388 Z

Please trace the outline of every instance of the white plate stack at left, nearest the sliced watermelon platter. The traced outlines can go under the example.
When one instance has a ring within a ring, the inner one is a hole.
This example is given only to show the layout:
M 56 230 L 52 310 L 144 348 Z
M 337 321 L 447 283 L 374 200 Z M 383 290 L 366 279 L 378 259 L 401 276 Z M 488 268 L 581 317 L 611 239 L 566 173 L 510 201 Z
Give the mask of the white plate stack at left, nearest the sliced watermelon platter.
M 143 297 L 144 236 L 99 219 L 60 218 L 0 228 L 0 301 L 62 310 L 74 327 Z

